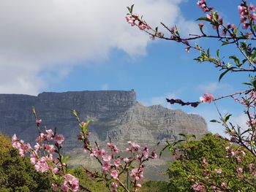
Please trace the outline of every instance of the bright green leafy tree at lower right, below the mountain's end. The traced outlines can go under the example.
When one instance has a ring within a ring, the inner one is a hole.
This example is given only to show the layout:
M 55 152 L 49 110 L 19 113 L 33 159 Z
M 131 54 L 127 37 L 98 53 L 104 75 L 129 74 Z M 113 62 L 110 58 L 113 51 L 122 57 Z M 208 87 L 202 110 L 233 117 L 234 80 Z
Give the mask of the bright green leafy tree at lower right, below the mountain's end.
M 228 150 L 230 143 L 220 138 L 218 135 L 206 134 L 200 140 L 188 140 L 180 145 L 171 147 L 176 161 L 170 163 L 167 174 L 170 179 L 171 191 L 194 191 L 195 180 L 199 183 L 205 183 L 208 191 L 214 191 L 217 186 L 225 185 L 224 188 L 218 188 L 222 191 L 254 191 L 256 185 L 250 185 L 246 179 L 251 174 L 248 164 L 255 164 L 256 158 L 244 147 L 233 145 L 232 150 L 244 151 L 241 155 L 233 155 L 229 158 Z M 243 157 L 241 157 L 244 155 Z M 238 174 L 239 162 L 244 172 Z M 246 177 L 244 177 L 246 176 Z M 255 183 L 255 178 L 251 178 Z M 251 181 L 252 182 L 252 181 Z

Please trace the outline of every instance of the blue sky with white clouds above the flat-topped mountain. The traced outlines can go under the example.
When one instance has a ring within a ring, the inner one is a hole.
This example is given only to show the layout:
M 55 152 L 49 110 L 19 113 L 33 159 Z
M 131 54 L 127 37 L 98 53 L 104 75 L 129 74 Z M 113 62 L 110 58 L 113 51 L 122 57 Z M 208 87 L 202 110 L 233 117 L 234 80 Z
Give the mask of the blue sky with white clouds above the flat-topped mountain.
M 143 15 L 151 26 L 159 22 L 178 26 L 182 35 L 198 33 L 196 19 L 203 12 L 191 0 L 2 0 L 0 1 L 0 93 L 37 95 L 44 91 L 95 91 L 134 89 L 144 105 L 162 104 L 206 118 L 217 119 L 214 104 L 170 106 L 165 98 L 198 101 L 205 92 L 215 97 L 243 90 L 248 74 L 227 74 L 211 64 L 193 61 L 176 42 L 156 39 L 129 26 L 127 6 Z M 238 25 L 240 1 L 208 1 L 227 22 Z M 206 27 L 210 32 L 211 28 Z M 211 50 L 217 42 L 197 40 Z M 221 54 L 234 53 L 223 47 Z M 230 99 L 217 102 L 223 113 L 245 123 L 241 107 Z M 222 126 L 208 123 L 212 132 Z

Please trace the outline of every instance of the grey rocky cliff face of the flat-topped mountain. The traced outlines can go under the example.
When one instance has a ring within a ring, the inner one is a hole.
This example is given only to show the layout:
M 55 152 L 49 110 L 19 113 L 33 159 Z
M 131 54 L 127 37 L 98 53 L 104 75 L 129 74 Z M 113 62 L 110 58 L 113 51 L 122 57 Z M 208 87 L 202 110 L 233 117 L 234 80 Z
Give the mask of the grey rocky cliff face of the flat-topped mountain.
M 40 93 L 38 96 L 0 94 L 0 131 L 17 134 L 34 143 L 37 128 L 31 107 L 36 107 L 42 126 L 57 127 L 64 134 L 64 147 L 80 147 L 77 141 L 78 123 L 71 109 L 81 120 L 94 121 L 89 126 L 92 139 L 98 142 L 123 144 L 128 140 L 140 144 L 179 139 L 178 134 L 206 134 L 206 122 L 199 115 L 187 115 L 181 110 L 169 110 L 160 105 L 145 107 L 136 101 L 135 91 L 78 91 Z

